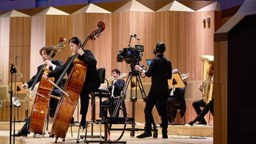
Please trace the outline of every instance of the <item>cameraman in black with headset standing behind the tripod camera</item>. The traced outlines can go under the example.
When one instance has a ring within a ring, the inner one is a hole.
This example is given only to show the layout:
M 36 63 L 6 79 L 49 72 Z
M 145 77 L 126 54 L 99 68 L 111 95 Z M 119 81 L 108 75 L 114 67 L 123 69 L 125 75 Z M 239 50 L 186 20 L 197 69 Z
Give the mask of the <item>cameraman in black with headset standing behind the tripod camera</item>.
M 167 100 L 168 100 L 168 79 L 172 78 L 172 64 L 169 59 L 164 57 L 165 52 L 165 43 L 156 42 L 153 53 L 155 58 L 152 59 L 151 64 L 148 70 L 144 70 L 139 65 L 135 66 L 135 70 L 141 72 L 147 77 L 151 77 L 151 88 L 146 99 L 146 106 L 144 109 L 145 113 L 145 122 L 146 130 L 141 135 L 138 135 L 137 138 L 146 138 L 151 137 L 151 124 L 152 124 L 152 109 L 156 102 L 160 104 L 160 110 L 162 113 L 162 136 L 163 139 L 167 139 L 167 128 L 168 128 L 168 119 L 167 119 Z

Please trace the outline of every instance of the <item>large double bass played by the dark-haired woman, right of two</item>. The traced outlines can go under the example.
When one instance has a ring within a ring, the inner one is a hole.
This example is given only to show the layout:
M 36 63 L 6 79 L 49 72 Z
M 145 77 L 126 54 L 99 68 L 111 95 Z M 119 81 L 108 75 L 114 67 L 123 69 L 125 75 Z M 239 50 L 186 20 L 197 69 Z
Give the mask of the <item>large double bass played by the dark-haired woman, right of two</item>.
M 88 40 L 95 40 L 95 37 L 98 37 L 101 34 L 101 32 L 104 31 L 105 23 L 99 22 L 97 26 L 99 27 L 99 29 L 92 31 L 91 34 L 87 36 L 86 40 L 80 47 L 81 49 L 84 48 Z M 51 137 L 56 136 L 55 143 L 57 142 L 57 139 L 59 137 L 63 139 L 66 137 L 67 131 L 69 129 L 69 124 L 73 116 L 73 112 L 75 111 L 75 108 L 77 106 L 78 99 L 82 91 L 82 86 L 85 81 L 87 64 L 79 60 L 78 55 L 79 54 L 73 56 L 73 59 L 65 68 L 64 72 L 62 73 L 62 76 L 60 76 L 60 78 L 63 78 L 65 73 L 69 69 L 69 66 L 73 63 L 72 70 L 69 73 L 68 79 L 64 85 L 63 90 L 61 90 L 65 93 L 63 93 L 59 99 L 59 103 L 56 108 L 54 120 L 52 123 L 50 134 Z

